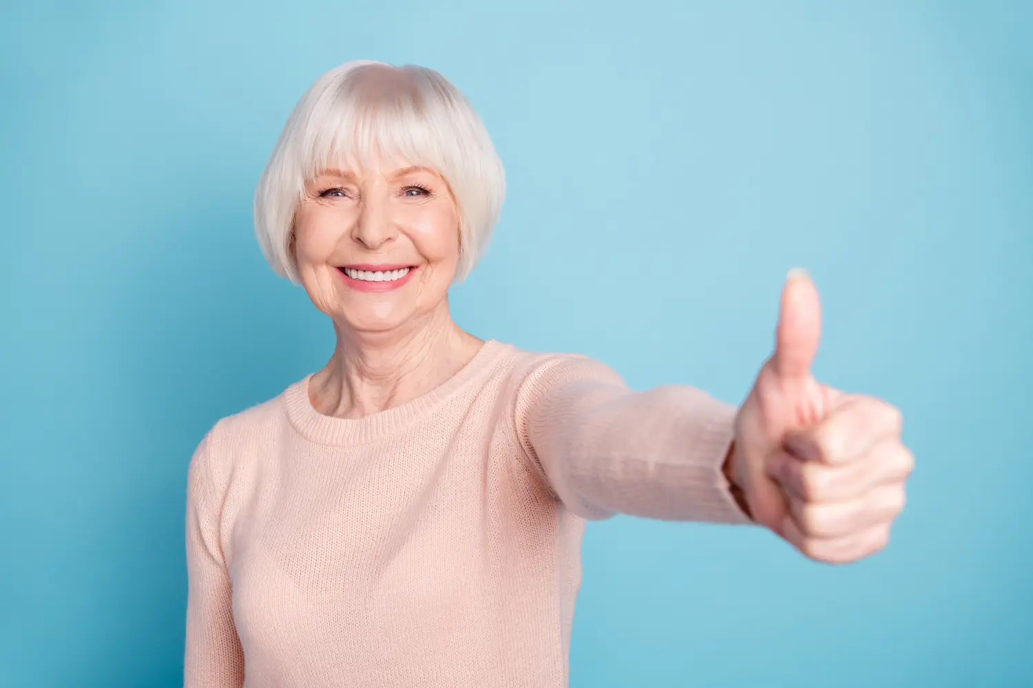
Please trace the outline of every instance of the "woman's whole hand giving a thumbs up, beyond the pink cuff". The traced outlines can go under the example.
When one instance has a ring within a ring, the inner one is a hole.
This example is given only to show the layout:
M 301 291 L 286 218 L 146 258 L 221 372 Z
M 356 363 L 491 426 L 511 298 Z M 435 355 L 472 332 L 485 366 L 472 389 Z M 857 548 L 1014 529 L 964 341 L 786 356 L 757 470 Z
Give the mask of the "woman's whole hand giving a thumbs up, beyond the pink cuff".
M 897 408 L 814 379 L 820 334 L 818 292 L 794 270 L 775 353 L 735 419 L 726 472 L 754 521 L 812 559 L 847 563 L 888 542 L 914 459 Z

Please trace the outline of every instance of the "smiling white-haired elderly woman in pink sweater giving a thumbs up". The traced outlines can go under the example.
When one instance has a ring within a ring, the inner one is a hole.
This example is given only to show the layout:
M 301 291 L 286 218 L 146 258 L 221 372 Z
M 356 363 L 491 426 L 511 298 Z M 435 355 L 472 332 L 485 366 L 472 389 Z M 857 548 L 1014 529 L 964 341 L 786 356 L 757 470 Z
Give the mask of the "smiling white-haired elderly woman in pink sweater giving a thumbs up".
M 434 71 L 351 62 L 299 102 L 257 235 L 337 346 L 191 460 L 186 686 L 564 686 L 582 534 L 614 514 L 758 524 L 825 562 L 886 544 L 912 465 L 901 417 L 811 375 L 805 274 L 741 407 L 634 392 L 452 322 L 503 190 Z

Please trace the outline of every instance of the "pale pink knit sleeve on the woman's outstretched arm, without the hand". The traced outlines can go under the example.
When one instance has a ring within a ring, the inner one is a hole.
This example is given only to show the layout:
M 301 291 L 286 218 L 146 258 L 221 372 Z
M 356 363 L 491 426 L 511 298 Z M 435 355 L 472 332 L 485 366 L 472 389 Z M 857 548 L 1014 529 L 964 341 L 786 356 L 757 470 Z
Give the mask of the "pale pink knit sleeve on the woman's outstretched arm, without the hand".
M 635 392 L 609 366 L 576 355 L 540 360 L 519 390 L 521 443 L 575 514 L 750 522 L 722 471 L 733 406 L 684 385 Z

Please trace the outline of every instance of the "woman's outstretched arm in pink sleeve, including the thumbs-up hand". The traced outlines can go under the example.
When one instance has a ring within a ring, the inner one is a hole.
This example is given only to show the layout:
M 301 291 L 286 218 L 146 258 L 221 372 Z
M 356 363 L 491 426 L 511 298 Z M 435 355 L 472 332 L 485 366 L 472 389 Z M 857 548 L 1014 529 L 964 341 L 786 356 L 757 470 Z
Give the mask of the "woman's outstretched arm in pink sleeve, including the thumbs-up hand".
M 897 408 L 811 374 L 820 332 L 814 284 L 790 273 L 775 352 L 738 411 L 686 386 L 633 392 L 583 356 L 545 359 L 518 394 L 521 441 L 586 518 L 752 519 L 808 557 L 855 561 L 888 542 L 914 457 Z

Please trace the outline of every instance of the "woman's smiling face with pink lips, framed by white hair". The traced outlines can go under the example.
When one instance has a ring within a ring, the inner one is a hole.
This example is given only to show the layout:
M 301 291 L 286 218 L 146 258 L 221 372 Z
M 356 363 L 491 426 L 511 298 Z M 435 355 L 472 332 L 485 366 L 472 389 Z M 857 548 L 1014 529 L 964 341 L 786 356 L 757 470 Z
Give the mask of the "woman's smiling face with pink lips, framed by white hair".
M 386 331 L 442 305 L 459 263 L 459 212 L 435 170 L 374 160 L 324 170 L 294 216 L 294 255 L 317 308 Z

